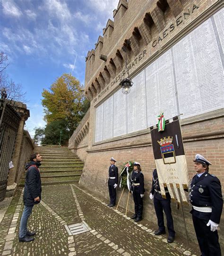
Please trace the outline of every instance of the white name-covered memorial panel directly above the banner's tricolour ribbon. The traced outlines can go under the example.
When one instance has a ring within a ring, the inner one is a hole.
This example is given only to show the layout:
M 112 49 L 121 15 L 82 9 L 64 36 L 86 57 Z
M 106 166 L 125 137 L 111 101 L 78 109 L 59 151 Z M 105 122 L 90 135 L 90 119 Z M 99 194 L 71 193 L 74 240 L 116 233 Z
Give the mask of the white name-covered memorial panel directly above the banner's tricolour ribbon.
M 146 68 L 146 92 L 148 127 L 157 123 L 162 112 L 165 119 L 177 115 L 171 50 Z

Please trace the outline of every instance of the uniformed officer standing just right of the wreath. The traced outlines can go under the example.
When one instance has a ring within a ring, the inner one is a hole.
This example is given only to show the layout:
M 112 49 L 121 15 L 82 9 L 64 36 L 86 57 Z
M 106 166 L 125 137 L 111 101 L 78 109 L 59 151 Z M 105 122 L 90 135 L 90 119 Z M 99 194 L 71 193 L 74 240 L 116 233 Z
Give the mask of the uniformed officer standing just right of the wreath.
M 131 217 L 131 219 L 138 222 L 142 220 L 143 196 L 145 192 L 144 175 L 141 172 L 141 167 L 138 162 L 134 162 L 134 167 L 130 179 L 133 199 L 135 203 L 135 214 Z

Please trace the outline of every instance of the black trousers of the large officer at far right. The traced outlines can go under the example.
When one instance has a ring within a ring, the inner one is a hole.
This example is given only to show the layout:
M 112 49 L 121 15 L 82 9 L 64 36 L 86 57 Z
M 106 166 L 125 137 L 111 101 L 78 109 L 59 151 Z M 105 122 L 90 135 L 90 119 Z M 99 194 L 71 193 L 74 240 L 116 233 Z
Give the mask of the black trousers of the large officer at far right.
M 202 256 L 221 256 L 221 248 L 218 242 L 218 231 L 211 231 L 207 227 L 207 220 L 202 220 L 192 215 L 194 229 Z

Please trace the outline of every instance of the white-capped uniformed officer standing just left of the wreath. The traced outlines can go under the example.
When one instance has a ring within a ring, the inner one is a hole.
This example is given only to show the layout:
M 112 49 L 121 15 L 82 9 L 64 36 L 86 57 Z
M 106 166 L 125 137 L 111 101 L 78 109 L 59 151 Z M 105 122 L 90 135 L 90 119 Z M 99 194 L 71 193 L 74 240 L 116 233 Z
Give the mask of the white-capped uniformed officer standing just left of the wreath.
M 110 203 L 107 204 L 109 207 L 113 207 L 116 203 L 116 187 L 118 185 L 118 168 L 115 166 L 116 160 L 111 158 L 111 166 L 109 167 L 108 177 L 108 189 L 110 195 Z

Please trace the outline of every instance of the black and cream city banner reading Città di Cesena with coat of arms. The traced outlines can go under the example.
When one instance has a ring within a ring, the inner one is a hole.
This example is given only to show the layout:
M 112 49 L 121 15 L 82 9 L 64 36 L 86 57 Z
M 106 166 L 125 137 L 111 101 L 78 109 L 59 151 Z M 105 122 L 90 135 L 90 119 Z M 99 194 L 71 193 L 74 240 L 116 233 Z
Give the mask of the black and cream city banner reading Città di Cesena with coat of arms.
M 159 132 L 154 126 L 151 126 L 150 130 L 162 196 L 165 198 L 164 186 L 166 186 L 171 198 L 176 198 L 178 202 L 182 198 L 183 202 L 187 202 L 184 188 L 188 188 L 190 178 L 178 117 L 166 120 L 164 131 Z M 177 188 L 180 188 L 181 198 Z

